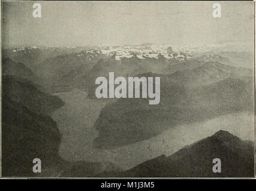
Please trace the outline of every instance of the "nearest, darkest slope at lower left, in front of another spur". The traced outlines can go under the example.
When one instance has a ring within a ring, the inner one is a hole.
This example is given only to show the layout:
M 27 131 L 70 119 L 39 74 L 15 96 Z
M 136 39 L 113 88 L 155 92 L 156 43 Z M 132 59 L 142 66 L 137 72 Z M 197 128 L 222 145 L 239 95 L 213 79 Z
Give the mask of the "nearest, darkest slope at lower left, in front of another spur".
M 2 97 L 2 175 L 36 176 L 33 159 L 40 158 L 43 170 L 57 169 L 61 134 L 50 117 L 37 115 L 8 96 Z M 52 173 L 47 174 L 52 176 Z

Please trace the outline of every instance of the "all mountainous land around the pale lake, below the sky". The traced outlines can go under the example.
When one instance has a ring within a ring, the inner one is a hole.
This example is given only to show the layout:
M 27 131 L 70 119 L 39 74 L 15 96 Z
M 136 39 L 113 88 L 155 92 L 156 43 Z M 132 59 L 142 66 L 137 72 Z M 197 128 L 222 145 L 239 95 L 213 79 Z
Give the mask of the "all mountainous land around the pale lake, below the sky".
M 254 112 L 250 53 L 170 45 L 15 47 L 2 56 L 2 175 L 62 177 L 251 177 L 254 146 L 225 131 L 124 171 L 111 162 L 68 162 L 59 156 L 62 134 L 50 116 L 64 106 L 56 94 L 75 88 L 95 98 L 95 79 L 161 77 L 161 101 L 121 98 L 101 109 L 94 123 L 96 149 L 116 149 L 155 137 L 177 125 L 228 113 Z M 54 96 L 55 95 L 55 96 Z M 81 103 L 83 104 L 83 103 Z M 220 158 L 222 173 L 212 172 Z

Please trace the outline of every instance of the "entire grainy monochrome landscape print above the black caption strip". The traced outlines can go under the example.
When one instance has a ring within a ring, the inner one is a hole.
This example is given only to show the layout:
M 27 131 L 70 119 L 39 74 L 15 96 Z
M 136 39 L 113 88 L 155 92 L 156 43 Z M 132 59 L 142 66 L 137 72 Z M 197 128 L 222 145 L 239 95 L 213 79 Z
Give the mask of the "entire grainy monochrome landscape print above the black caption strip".
M 2 176 L 254 177 L 254 2 L 39 3 L 2 2 Z

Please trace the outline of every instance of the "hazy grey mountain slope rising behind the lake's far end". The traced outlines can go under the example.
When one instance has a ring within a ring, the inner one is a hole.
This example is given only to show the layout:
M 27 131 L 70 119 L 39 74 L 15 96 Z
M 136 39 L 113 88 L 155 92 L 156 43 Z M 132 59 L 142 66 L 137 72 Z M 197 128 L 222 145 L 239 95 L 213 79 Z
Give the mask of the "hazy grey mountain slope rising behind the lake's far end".
M 100 51 L 82 51 L 47 58 L 37 67 L 35 74 L 50 87 L 76 85 L 101 60 Z M 54 91 L 54 90 L 52 90 Z

